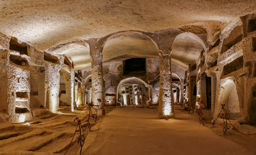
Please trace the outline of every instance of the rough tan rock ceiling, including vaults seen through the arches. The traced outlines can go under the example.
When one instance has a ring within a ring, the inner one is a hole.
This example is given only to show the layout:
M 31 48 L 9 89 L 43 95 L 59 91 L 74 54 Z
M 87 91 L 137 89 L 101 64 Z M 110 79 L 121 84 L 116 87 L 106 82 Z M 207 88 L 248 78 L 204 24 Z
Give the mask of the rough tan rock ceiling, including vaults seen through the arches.
M 2 0 L 0 1 L 0 32 L 5 35 L 17 37 L 21 42 L 28 42 L 38 50 L 48 50 L 61 43 L 67 43 L 79 39 L 104 37 L 121 30 L 159 31 L 170 28 L 179 28 L 183 25 L 196 23 L 207 27 L 212 21 L 229 23 L 237 21 L 239 17 L 256 12 L 255 0 Z M 115 38 L 118 40 L 117 38 Z M 119 40 L 120 41 L 120 40 Z M 112 42 L 114 46 L 106 45 L 106 50 L 112 49 L 118 53 L 120 59 L 127 54 L 125 48 L 131 49 L 128 54 L 136 54 L 135 57 L 154 57 L 157 53 L 148 50 L 150 46 L 145 43 L 138 46 L 139 42 L 131 41 L 131 45 L 125 42 Z M 111 42 L 109 42 L 111 44 Z M 181 41 L 177 42 L 180 54 L 174 52 L 173 58 L 186 59 L 184 64 L 191 61 L 194 55 L 191 51 L 199 50 L 199 47 L 188 48 Z M 109 47 L 109 49 L 107 49 Z M 143 48 L 141 52 L 141 49 Z M 68 45 L 65 51 L 60 52 L 72 58 L 76 68 L 88 67 L 89 57 L 85 53 L 88 50 L 80 45 Z M 84 51 L 84 54 L 83 54 Z M 114 59 L 114 52 L 103 56 L 104 61 Z M 189 52 L 190 51 L 190 52 Z M 105 51 L 108 53 L 108 51 Z M 184 56 L 184 54 L 189 54 Z M 79 57 L 80 55 L 80 57 Z M 126 56 L 130 57 L 130 56 Z M 189 58 L 190 57 L 190 58 Z M 118 57 L 116 58 L 118 59 Z M 184 65 L 183 64 L 183 65 Z

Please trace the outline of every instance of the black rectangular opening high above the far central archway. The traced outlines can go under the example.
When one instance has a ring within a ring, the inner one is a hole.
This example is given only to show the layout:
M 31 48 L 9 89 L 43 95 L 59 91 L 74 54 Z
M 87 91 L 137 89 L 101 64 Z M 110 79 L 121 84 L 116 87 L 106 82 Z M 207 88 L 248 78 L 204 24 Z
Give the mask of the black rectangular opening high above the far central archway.
M 131 58 L 125 60 L 125 73 L 146 72 L 146 58 Z

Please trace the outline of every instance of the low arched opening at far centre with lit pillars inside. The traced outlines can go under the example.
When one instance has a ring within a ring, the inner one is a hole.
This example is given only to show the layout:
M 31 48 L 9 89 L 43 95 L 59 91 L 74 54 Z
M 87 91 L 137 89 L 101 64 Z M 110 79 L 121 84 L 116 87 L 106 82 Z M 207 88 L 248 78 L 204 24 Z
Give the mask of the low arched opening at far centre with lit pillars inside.
M 116 100 L 122 105 L 146 104 L 146 101 L 151 100 L 150 91 L 152 92 L 151 85 L 137 77 L 129 77 L 119 82 Z

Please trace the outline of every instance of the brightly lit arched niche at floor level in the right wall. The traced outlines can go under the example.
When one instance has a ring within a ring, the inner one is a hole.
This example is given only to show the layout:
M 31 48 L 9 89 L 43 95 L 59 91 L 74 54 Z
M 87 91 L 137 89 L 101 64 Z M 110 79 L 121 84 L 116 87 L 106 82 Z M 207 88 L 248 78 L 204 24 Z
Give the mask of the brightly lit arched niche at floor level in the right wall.
M 236 85 L 232 79 L 227 79 L 220 87 L 220 104 L 225 104 L 225 109 L 230 117 L 241 117 Z

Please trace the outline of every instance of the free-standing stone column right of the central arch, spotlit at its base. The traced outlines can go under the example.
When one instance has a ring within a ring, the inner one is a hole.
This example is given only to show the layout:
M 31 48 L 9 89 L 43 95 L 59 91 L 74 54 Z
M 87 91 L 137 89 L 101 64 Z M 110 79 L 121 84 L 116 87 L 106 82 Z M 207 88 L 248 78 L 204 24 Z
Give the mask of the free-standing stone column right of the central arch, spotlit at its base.
M 171 52 L 159 51 L 160 87 L 158 118 L 166 118 L 167 115 L 167 118 L 175 118 L 172 102 Z

